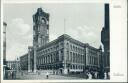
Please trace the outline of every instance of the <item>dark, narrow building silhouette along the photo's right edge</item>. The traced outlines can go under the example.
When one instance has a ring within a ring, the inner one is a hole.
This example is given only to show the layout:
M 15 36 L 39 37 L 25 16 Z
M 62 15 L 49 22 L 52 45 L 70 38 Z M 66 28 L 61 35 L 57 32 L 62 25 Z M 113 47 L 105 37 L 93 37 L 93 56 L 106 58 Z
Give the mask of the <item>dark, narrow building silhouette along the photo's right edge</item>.
M 104 47 L 103 61 L 105 71 L 110 71 L 110 24 L 109 24 L 109 4 L 105 4 L 105 26 L 101 31 L 101 42 Z

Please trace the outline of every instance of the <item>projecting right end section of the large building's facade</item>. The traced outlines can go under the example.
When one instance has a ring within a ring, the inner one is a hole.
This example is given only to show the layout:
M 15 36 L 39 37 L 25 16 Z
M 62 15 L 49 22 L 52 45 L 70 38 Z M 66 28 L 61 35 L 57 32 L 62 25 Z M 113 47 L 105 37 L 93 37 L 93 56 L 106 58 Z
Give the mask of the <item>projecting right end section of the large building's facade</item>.
M 92 71 L 99 71 L 101 62 L 101 51 L 92 46 L 86 45 L 86 68 Z

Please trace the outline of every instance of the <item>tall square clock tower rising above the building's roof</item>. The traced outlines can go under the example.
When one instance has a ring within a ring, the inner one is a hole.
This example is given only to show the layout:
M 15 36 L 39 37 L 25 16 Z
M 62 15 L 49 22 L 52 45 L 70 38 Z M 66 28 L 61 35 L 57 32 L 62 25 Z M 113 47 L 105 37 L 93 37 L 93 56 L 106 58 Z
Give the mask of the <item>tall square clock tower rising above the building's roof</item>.
M 33 46 L 41 47 L 49 42 L 49 14 L 38 8 L 33 15 Z

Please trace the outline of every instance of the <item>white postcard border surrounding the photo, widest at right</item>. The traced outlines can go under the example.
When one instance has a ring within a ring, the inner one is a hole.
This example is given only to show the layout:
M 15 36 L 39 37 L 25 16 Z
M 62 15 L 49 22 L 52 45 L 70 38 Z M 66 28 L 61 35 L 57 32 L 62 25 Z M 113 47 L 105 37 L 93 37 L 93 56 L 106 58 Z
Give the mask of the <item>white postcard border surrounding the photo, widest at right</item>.
M 126 0 L 2 0 L 1 1 L 1 27 L 3 27 L 3 4 L 29 4 L 29 3 L 110 3 L 110 80 L 2 80 L 3 72 L 1 72 L 1 81 L 8 82 L 126 82 L 127 80 L 127 1 Z M 114 7 L 121 6 L 121 8 Z M 121 13 L 119 13 L 121 12 Z M 117 17 L 119 20 L 117 20 Z M 118 24 L 118 25 L 117 25 Z M 122 28 L 124 27 L 124 28 Z M 1 36 L 3 37 L 3 29 L 1 28 Z M 118 36 L 118 37 L 117 37 Z M 1 41 L 3 38 L 1 37 Z M 3 42 L 1 42 L 3 46 Z M 1 48 L 1 55 L 3 55 Z M 115 51 L 116 50 L 116 51 Z M 120 57 L 123 60 L 120 60 Z M 121 62 L 121 63 L 119 63 Z M 3 64 L 3 56 L 1 56 Z M 122 66 L 123 68 L 121 68 Z M 114 70 L 113 70 L 114 69 Z M 113 71 L 123 72 L 124 76 L 113 76 Z M 3 71 L 3 65 L 1 65 Z M 126 74 L 125 74 L 126 73 Z

